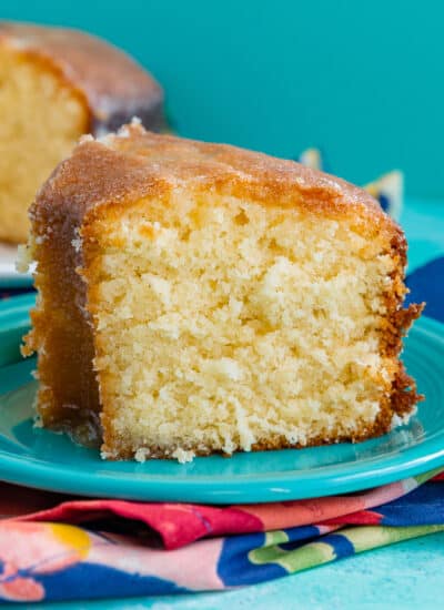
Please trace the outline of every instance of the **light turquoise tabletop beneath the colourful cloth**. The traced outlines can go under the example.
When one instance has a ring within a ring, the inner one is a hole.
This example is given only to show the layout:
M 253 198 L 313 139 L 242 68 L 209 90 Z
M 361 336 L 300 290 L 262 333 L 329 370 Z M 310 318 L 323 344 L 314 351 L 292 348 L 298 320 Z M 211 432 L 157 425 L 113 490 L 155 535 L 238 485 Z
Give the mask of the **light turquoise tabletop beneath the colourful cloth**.
M 401 218 L 407 240 L 408 271 L 444 254 L 444 202 L 410 200 Z M 38 604 L 38 608 L 124 610 L 211 610 L 282 607 L 310 609 L 438 608 L 444 583 L 444 533 L 410 540 L 343 559 L 306 572 L 223 593 L 200 593 Z M 3 608 L 12 607 L 11 604 Z M 17 608 L 17 606 L 14 606 Z

